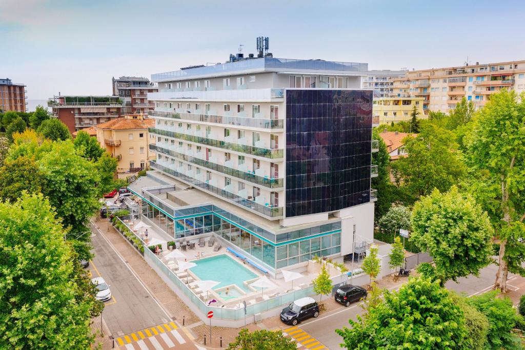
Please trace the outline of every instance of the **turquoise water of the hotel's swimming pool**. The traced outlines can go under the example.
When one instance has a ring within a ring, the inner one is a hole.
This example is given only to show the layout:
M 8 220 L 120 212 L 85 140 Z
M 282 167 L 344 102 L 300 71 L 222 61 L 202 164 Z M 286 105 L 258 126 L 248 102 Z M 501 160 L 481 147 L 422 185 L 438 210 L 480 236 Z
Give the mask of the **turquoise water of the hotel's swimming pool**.
M 193 260 L 197 266 L 191 268 L 193 273 L 201 280 L 212 280 L 220 282 L 213 289 L 219 289 L 226 285 L 236 284 L 240 289 L 251 292 L 243 284 L 244 281 L 253 280 L 258 276 L 245 268 L 243 265 L 228 257 L 220 254 L 215 257 Z

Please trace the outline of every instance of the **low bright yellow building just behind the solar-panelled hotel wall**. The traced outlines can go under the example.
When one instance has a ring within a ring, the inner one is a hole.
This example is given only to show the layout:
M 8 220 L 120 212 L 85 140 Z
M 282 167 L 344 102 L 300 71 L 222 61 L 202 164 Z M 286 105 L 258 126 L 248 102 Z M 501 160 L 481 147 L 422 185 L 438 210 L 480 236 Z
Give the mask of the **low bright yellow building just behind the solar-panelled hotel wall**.
M 379 116 L 380 124 L 397 123 L 410 120 L 412 109 L 416 106 L 418 119 L 427 119 L 423 111 L 423 97 L 382 97 L 374 100 L 373 114 Z

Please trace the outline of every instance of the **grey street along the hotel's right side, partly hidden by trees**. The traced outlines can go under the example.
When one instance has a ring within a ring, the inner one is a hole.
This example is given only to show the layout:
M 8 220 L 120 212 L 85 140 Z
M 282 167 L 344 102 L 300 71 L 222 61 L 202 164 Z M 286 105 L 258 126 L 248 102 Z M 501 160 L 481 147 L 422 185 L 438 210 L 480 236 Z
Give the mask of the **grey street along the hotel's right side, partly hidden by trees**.
M 458 279 L 456 282 L 446 283 L 446 287 L 450 290 L 454 290 L 466 295 L 478 294 L 489 290 L 494 284 L 496 277 L 497 266 L 491 265 L 480 271 L 478 277 L 468 277 Z M 509 274 L 509 289 L 518 288 L 515 286 L 525 286 L 525 278 Z M 348 320 L 356 320 L 356 316 L 361 314 L 363 310 L 359 306 L 359 303 L 355 303 L 352 306 L 336 311 L 327 316 L 320 316 L 317 319 L 311 319 L 306 322 L 299 324 L 299 327 L 308 332 L 311 336 L 316 337 L 321 343 L 330 349 L 341 348 L 339 344 L 342 338 L 335 334 L 334 330 L 348 326 Z

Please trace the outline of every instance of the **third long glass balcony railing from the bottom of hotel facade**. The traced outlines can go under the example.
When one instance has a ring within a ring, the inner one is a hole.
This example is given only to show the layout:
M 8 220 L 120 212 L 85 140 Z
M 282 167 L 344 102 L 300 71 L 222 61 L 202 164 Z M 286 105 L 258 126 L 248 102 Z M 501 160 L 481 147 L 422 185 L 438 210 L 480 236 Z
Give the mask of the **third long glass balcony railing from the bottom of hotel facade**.
M 168 130 L 162 130 L 162 129 L 149 128 L 148 131 L 153 134 L 157 134 L 157 135 L 174 137 L 175 139 L 179 139 L 179 140 L 200 143 L 200 144 L 207 145 L 207 146 L 218 147 L 224 150 L 230 150 L 230 151 L 235 151 L 235 152 L 240 152 L 240 153 L 247 153 L 247 154 L 256 155 L 259 157 L 271 158 L 271 159 L 282 158 L 282 153 L 283 153 L 282 150 L 280 149 L 275 149 L 275 150 L 265 149 L 265 148 L 256 147 L 256 146 L 242 145 L 239 143 L 208 139 L 208 137 L 181 134 L 181 133 L 168 131 Z

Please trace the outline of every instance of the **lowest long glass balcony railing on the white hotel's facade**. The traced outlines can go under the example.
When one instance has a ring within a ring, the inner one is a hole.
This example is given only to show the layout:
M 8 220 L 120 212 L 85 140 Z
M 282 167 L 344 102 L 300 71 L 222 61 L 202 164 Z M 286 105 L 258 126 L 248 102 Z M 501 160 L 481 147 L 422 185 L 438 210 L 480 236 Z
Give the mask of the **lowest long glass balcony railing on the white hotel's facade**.
M 254 200 L 247 199 L 244 197 L 240 197 L 234 193 L 227 192 L 224 189 L 212 186 L 206 182 L 202 182 L 200 180 L 197 180 L 191 176 L 187 176 L 185 174 L 181 174 L 177 171 L 175 171 L 172 168 L 169 168 L 163 164 L 157 163 L 156 161 L 150 161 L 150 166 L 153 169 L 157 169 L 159 171 L 162 171 L 166 174 L 173 175 L 175 177 L 181 178 L 184 181 L 191 183 L 194 187 L 199 187 L 204 190 L 207 190 L 208 192 L 214 193 L 222 198 L 228 199 L 229 201 L 232 201 L 233 203 L 254 210 L 257 213 L 260 213 L 262 215 L 268 216 L 268 217 L 280 217 L 282 216 L 282 207 L 270 207 L 266 205 L 262 205 L 259 203 L 256 203 Z

